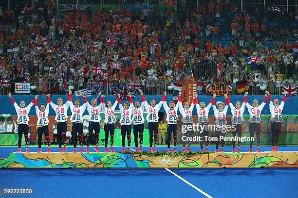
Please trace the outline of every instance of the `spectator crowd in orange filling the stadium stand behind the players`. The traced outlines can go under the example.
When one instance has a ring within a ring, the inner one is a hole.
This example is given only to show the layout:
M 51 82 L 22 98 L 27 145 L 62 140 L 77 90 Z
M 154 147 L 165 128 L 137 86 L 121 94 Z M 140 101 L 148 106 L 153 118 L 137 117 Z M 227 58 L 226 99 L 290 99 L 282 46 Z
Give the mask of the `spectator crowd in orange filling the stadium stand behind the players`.
M 226 4 L 231 44 L 222 45 L 218 40 L 226 32 L 216 25 L 223 15 L 219 2 L 211 0 L 186 14 L 184 0 L 178 11 L 176 1 L 159 3 L 170 6 L 162 12 L 87 8 L 61 17 L 56 0 L 38 9 L 0 8 L 1 82 L 36 82 L 37 93 L 58 83 L 53 94 L 63 93 L 63 83 L 76 82 L 76 89 L 100 83 L 104 94 L 112 93 L 108 84 L 122 87 L 131 81 L 140 82 L 146 94 L 162 94 L 168 85 L 187 81 L 233 83 L 234 90 L 236 82 L 247 81 L 252 94 L 262 94 L 260 86 L 274 93 L 281 83 L 297 84 L 297 26 L 292 31 L 268 28 L 269 15 L 256 9 L 249 16 Z M 296 13 L 284 9 L 275 15 L 298 21 Z M 265 47 L 268 42 L 273 46 Z M 245 56 L 260 58 L 252 63 L 252 73 Z M 1 93 L 10 87 L 2 85 Z

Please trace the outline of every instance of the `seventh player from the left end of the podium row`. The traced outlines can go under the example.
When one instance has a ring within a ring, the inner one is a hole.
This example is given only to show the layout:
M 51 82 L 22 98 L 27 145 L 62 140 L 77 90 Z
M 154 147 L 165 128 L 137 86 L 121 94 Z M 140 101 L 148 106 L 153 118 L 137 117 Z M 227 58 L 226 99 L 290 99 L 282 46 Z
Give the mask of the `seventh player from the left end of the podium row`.
M 121 125 L 121 140 L 122 140 L 122 152 L 125 152 L 125 136 L 127 135 L 127 143 L 128 143 L 128 149 L 127 151 L 130 151 L 130 134 L 131 134 L 131 115 L 132 115 L 132 109 L 133 109 L 133 102 L 131 98 L 131 92 L 128 93 L 128 98 L 130 101 L 130 105 L 128 102 L 124 102 L 123 106 L 121 104 L 121 99 L 118 99 L 119 102 L 119 109 L 120 109 L 120 125 Z

